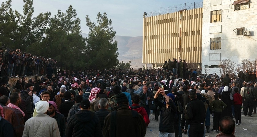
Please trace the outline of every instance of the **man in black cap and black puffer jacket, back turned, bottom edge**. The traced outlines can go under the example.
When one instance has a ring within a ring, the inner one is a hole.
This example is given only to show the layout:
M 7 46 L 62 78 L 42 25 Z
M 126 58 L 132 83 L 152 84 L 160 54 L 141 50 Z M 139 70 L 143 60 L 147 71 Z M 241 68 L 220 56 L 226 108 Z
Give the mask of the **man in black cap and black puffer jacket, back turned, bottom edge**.
M 67 137 L 90 137 L 102 136 L 100 120 L 89 110 L 89 100 L 83 99 L 80 102 L 80 111 L 73 115 L 67 123 L 65 135 Z

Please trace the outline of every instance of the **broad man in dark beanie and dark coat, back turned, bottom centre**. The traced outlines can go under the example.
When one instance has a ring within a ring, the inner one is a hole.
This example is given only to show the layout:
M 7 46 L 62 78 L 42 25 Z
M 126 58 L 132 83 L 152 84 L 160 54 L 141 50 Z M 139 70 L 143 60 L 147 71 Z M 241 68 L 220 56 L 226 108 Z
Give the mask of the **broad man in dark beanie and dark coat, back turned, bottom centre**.
M 117 108 L 105 118 L 102 132 L 103 136 L 144 137 L 146 133 L 145 121 L 142 115 L 129 109 L 126 95 L 122 93 L 117 94 L 116 102 Z M 133 130 L 128 130 L 129 128 L 133 128 Z

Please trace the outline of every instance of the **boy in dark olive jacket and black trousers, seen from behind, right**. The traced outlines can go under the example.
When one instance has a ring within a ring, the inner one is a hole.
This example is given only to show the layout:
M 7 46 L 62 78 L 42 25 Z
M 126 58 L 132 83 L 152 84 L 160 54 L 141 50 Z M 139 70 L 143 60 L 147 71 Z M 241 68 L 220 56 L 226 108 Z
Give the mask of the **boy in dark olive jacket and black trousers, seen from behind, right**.
M 219 120 L 222 118 L 222 110 L 227 107 L 223 101 L 219 100 L 219 94 L 214 94 L 215 100 L 210 103 L 210 111 L 213 111 L 213 132 L 219 133 Z

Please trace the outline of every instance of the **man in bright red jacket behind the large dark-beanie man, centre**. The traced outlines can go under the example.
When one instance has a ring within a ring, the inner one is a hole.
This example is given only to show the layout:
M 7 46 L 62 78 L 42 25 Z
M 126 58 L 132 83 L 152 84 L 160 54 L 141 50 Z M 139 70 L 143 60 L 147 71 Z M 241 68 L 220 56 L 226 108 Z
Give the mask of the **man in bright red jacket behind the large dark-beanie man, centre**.
M 138 104 L 139 100 L 140 100 L 139 98 L 140 98 L 140 96 L 138 94 L 134 94 L 131 98 L 133 104 L 132 104 L 132 106 L 129 106 L 129 108 L 140 113 L 145 120 L 146 127 L 149 128 L 148 124 L 150 123 L 150 120 L 149 120 L 149 117 L 148 117 L 144 107 L 142 107 Z

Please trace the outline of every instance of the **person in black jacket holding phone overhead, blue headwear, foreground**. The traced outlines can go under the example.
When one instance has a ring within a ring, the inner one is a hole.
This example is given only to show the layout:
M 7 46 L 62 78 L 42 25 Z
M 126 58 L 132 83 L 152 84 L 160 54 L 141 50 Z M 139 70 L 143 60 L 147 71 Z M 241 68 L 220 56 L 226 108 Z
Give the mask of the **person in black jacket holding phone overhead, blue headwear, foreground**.
M 162 103 L 158 100 L 158 95 L 162 94 L 165 98 L 165 102 Z M 161 108 L 161 116 L 159 123 L 159 137 L 175 136 L 174 130 L 174 117 L 177 113 L 177 107 L 175 106 L 175 96 L 171 93 L 165 94 L 164 89 L 159 87 L 154 97 L 154 102 Z

